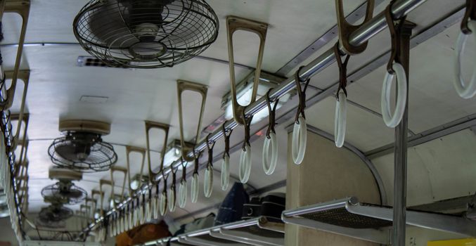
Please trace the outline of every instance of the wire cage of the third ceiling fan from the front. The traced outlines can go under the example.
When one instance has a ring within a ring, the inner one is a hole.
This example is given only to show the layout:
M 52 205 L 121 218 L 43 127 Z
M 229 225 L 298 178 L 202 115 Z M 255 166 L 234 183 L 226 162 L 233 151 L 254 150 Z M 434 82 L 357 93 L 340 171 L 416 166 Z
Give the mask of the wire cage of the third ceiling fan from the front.
M 62 186 L 67 186 L 64 188 Z M 86 190 L 73 183 L 55 183 L 41 189 L 41 196 L 49 200 L 61 201 L 67 205 L 77 205 L 87 196 Z

